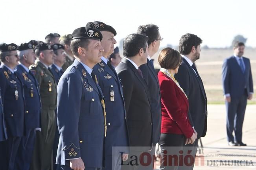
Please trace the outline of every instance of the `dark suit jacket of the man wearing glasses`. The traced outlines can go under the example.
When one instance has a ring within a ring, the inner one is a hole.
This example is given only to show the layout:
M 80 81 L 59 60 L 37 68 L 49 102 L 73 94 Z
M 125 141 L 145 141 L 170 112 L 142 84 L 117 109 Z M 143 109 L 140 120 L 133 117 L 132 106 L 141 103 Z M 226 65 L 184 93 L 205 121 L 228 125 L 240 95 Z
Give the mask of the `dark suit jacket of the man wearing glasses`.
M 151 61 L 147 60 L 146 64 L 140 66 L 143 73 L 144 80 L 149 88 L 149 95 L 151 99 L 151 112 L 153 121 L 152 139 L 156 144 L 160 138 L 161 131 L 161 97 L 160 88 L 157 75 Z

